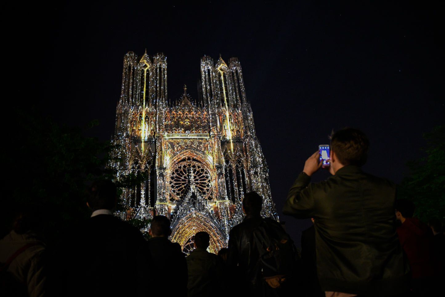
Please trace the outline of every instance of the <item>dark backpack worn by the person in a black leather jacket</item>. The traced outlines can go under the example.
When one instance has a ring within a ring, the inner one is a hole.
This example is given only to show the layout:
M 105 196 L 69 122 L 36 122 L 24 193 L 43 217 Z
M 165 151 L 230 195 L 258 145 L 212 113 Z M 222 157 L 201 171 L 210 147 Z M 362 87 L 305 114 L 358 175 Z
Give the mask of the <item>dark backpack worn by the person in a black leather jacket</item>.
M 263 277 L 272 288 L 279 288 L 295 274 L 298 253 L 291 237 L 271 218 L 263 219 L 252 236 L 259 253 L 255 275 Z

